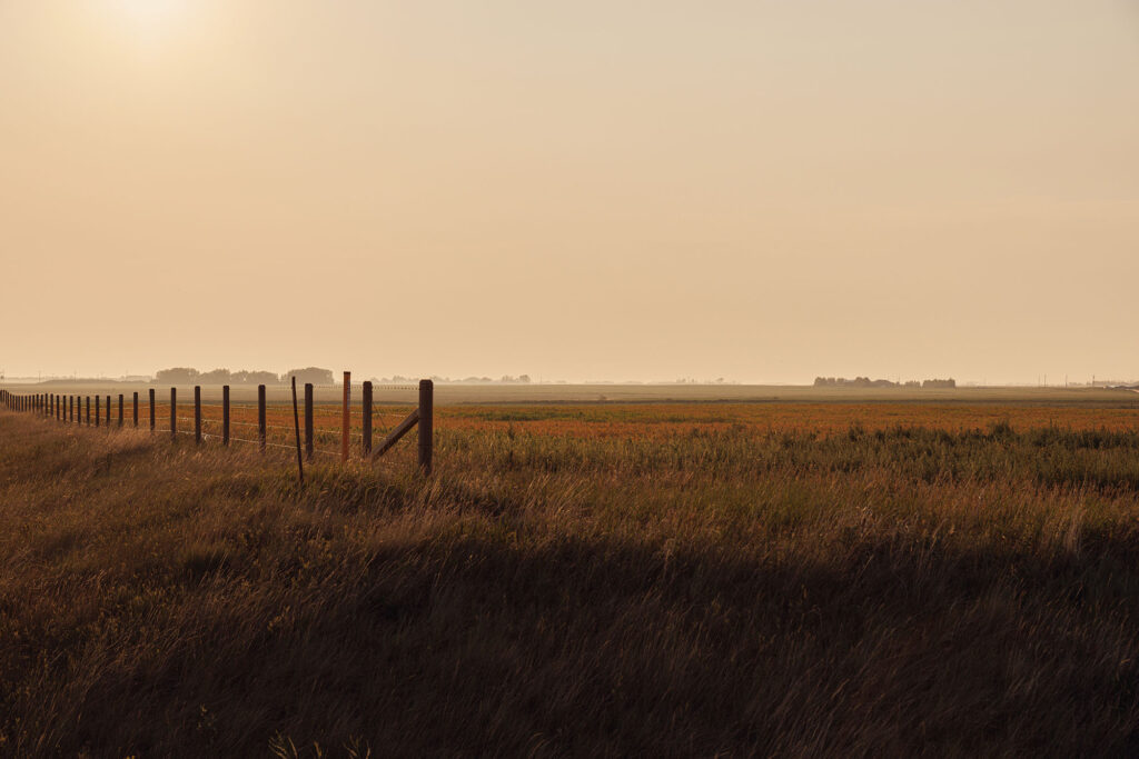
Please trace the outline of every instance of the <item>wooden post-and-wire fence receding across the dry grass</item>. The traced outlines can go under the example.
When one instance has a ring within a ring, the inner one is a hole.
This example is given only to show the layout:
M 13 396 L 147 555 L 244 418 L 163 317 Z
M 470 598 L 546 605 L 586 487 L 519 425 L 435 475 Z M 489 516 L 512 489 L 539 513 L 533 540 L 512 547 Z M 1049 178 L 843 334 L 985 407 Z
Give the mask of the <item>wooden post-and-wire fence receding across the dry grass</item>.
M 375 460 L 387 453 L 392 446 L 394 446 L 399 440 L 411 431 L 412 428 L 419 428 L 419 444 L 418 444 L 418 462 L 420 469 L 425 473 L 431 473 L 432 470 L 432 459 L 434 453 L 434 395 L 435 387 L 432 380 L 420 380 L 419 381 L 419 398 L 418 404 L 412 409 L 411 413 L 403 415 L 399 413 L 384 413 L 377 412 L 376 405 L 374 403 L 374 389 L 371 382 L 364 382 L 362 386 L 362 398 L 359 409 L 355 409 L 352 404 L 352 382 L 351 372 L 344 372 L 344 398 L 341 409 L 341 424 L 339 424 L 339 451 L 333 451 L 328 448 L 317 447 L 318 435 L 322 439 L 329 437 L 329 430 L 327 427 L 318 428 L 316 423 L 316 406 L 313 402 L 313 386 L 306 383 L 304 386 L 304 459 L 312 461 L 317 454 L 327 456 L 337 456 L 342 462 L 346 462 L 352 452 L 352 431 L 353 431 L 353 420 L 359 416 L 360 419 L 360 452 L 361 457 L 364 460 Z M 91 399 L 95 398 L 95 419 L 92 424 L 91 414 Z M 294 396 L 295 397 L 295 396 Z M 117 401 L 117 404 L 113 403 Z M 155 388 L 149 388 L 148 393 L 148 412 L 149 412 L 149 431 L 151 435 L 157 434 L 169 434 L 171 440 L 177 442 L 180 435 L 192 436 L 196 445 L 202 445 L 204 440 L 207 439 L 220 439 L 223 446 L 229 446 L 232 443 L 256 445 L 261 451 L 265 451 L 269 447 L 273 448 L 300 448 L 300 439 L 297 439 L 296 445 L 285 445 L 270 439 L 271 431 L 277 432 L 279 430 L 286 430 L 288 432 L 296 432 L 296 437 L 300 438 L 301 430 L 298 429 L 300 422 L 298 418 L 294 416 L 288 421 L 292 424 L 270 424 L 268 404 L 265 401 L 265 386 L 257 386 L 257 401 L 256 401 L 256 423 L 252 421 L 245 421 L 248 418 L 248 412 L 253 410 L 251 404 L 231 404 L 230 403 L 230 391 L 229 386 L 222 387 L 222 399 L 221 404 L 205 404 L 202 402 L 202 387 L 196 386 L 194 388 L 194 415 L 192 416 L 180 416 L 180 406 L 178 405 L 178 388 L 170 388 L 170 402 L 167 404 L 159 404 L 156 398 Z M 294 403 L 296 401 L 294 399 Z M 125 426 L 124 413 L 125 413 L 126 399 L 123 394 L 118 394 L 117 398 L 113 398 L 110 395 L 106 396 L 81 396 L 81 395 L 57 395 L 49 393 L 36 393 L 31 395 L 21 395 L 11 393 L 10 390 L 0 389 L 0 405 L 11 411 L 32 413 L 49 419 L 55 419 L 56 421 L 64 423 L 83 424 L 87 427 L 100 427 L 105 426 L 107 429 L 121 429 Z M 131 401 L 131 427 L 137 429 L 139 427 L 139 394 L 133 393 Z M 117 411 L 115 406 L 117 405 Z M 158 419 L 159 412 L 165 411 L 162 405 L 166 405 L 170 414 L 169 427 L 159 427 Z M 203 409 L 221 409 L 221 418 L 212 419 L 203 414 Z M 237 413 L 235 413 L 237 412 Z M 112 414 L 115 413 L 115 422 L 112 423 Z M 401 421 L 396 423 L 387 435 L 384 436 L 377 445 L 372 446 L 372 431 L 376 428 L 375 421 L 383 418 L 399 418 Z M 179 422 L 192 423 L 191 430 L 179 429 Z M 220 430 L 214 432 L 204 431 L 205 426 L 220 427 Z M 255 428 L 256 438 L 241 437 L 232 434 L 233 428 Z

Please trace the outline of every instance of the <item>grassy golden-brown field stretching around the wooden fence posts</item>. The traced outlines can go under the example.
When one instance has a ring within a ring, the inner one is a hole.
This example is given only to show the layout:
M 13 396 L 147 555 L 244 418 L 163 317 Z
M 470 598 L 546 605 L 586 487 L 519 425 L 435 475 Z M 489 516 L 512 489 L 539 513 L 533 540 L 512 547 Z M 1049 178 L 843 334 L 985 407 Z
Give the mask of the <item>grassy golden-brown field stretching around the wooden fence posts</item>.
M 1139 751 L 1139 396 L 452 401 L 303 489 L 0 412 L 0 752 Z

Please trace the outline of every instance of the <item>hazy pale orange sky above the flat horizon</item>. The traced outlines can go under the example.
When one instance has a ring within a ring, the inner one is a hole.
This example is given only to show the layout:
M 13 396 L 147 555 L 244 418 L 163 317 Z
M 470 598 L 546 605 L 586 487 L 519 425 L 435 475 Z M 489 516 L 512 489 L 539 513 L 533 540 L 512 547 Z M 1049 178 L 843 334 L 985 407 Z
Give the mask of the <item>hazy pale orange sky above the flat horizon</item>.
M 1136 0 L 0 0 L 0 369 L 1139 377 Z

